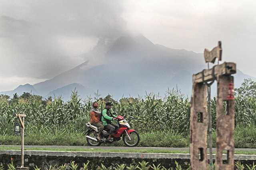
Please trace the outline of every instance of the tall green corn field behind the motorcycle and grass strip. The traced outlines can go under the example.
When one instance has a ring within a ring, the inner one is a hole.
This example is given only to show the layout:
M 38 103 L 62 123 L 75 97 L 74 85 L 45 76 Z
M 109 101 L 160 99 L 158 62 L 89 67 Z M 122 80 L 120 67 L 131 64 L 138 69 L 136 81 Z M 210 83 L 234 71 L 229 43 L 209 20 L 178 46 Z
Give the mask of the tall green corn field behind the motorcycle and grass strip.
M 84 132 L 85 123 L 90 121 L 89 111 L 93 101 L 98 101 L 99 109 L 104 109 L 106 101 L 114 103 L 113 111 L 128 119 L 130 125 L 139 132 L 174 130 L 188 135 L 190 123 L 190 99 L 168 92 L 165 97 L 146 95 L 138 98 L 122 98 L 115 101 L 111 96 L 94 99 L 80 99 L 76 91 L 72 92 L 70 101 L 64 103 L 60 97 L 42 99 L 37 95 L 24 93 L 20 97 L 0 96 L 0 135 L 12 135 L 14 122 L 18 121 L 14 114 L 24 113 L 26 134 L 42 131 Z M 216 127 L 216 100 L 212 99 L 213 128 Z M 256 97 L 241 96 L 235 98 L 235 124 L 248 127 L 256 126 Z

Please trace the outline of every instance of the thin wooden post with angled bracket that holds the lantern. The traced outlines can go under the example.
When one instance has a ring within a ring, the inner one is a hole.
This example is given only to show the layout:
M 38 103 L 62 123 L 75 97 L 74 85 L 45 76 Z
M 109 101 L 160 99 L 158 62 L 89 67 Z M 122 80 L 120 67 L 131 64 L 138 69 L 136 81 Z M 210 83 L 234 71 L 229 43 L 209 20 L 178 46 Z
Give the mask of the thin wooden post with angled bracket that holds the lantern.
M 16 114 L 21 125 L 21 156 L 20 156 L 20 167 L 17 167 L 16 170 L 29 170 L 28 167 L 24 167 L 24 132 L 25 132 L 25 117 L 23 114 Z

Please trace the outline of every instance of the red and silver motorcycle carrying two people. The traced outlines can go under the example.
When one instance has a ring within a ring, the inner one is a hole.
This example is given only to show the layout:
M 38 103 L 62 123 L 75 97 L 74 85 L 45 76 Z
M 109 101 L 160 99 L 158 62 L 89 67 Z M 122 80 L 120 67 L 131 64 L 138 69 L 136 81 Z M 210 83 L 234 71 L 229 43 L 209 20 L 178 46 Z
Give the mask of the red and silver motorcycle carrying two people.
M 130 129 L 130 125 L 128 121 L 124 119 L 122 116 L 118 116 L 116 118 L 118 122 L 118 128 L 115 130 L 114 134 L 112 134 L 113 141 L 108 141 L 107 138 L 109 136 L 109 132 L 106 130 L 102 131 L 101 140 L 97 140 L 98 136 L 98 128 L 94 125 L 91 125 L 90 122 L 86 123 L 86 126 L 89 130 L 86 132 L 86 140 L 90 146 L 100 146 L 102 143 L 112 143 L 123 139 L 124 144 L 128 147 L 137 146 L 140 142 L 140 135 L 134 129 Z

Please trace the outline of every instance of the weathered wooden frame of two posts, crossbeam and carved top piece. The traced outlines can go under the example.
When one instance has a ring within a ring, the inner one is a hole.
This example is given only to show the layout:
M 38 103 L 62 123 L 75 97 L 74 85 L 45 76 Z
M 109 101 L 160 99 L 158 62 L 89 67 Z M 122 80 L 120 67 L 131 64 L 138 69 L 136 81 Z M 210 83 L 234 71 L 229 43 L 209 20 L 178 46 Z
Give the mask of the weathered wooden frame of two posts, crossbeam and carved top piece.
M 212 51 L 204 50 L 204 59 L 208 69 L 192 76 L 192 98 L 190 109 L 190 164 L 192 170 L 207 170 L 207 130 L 209 132 L 210 169 L 212 166 L 212 122 L 210 108 L 210 86 L 217 80 L 217 142 L 216 169 L 234 169 L 234 77 L 236 64 L 224 62 L 209 68 L 209 62 L 218 63 L 222 59 L 221 42 Z M 210 83 L 209 83 L 210 82 Z M 208 106 L 207 95 L 208 89 Z M 225 113 L 226 108 L 226 113 Z M 226 153 L 225 153 L 226 152 Z M 226 159 L 222 160 L 222 155 Z

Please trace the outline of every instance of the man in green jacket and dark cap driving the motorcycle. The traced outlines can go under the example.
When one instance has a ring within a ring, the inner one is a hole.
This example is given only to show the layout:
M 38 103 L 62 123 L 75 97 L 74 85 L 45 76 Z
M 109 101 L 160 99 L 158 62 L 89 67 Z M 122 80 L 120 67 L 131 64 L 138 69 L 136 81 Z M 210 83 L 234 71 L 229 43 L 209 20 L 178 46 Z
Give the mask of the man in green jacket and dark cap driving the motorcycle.
M 108 136 L 108 141 L 111 141 L 111 135 L 114 133 L 114 131 L 116 130 L 116 128 L 118 128 L 118 126 L 116 125 L 112 125 L 111 121 L 112 120 L 116 120 L 116 115 L 113 115 L 110 111 L 112 107 L 112 103 L 111 102 L 107 102 L 106 103 L 106 108 L 102 111 L 102 117 L 101 117 L 101 121 L 102 124 L 104 126 L 104 128 L 106 130 L 109 130 L 109 136 Z

